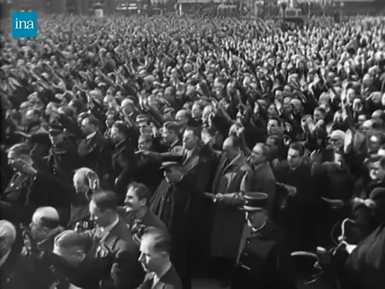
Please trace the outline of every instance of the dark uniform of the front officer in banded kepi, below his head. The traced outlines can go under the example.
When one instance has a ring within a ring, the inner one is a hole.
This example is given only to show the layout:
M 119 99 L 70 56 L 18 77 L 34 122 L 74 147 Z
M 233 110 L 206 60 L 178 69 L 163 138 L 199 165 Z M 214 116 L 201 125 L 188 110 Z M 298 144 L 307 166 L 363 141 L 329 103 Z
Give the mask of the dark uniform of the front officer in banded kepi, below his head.
M 267 220 L 263 228 L 247 237 L 231 289 L 296 288 L 290 271 L 290 254 L 284 247 L 280 228 Z

